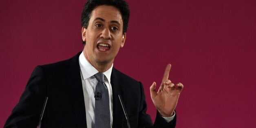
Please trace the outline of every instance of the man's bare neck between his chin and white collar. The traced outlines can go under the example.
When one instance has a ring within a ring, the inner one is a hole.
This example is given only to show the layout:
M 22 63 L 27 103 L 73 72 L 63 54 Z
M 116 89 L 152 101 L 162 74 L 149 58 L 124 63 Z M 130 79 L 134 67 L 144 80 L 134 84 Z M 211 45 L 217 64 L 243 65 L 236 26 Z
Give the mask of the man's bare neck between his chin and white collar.
M 84 52 L 84 57 L 86 58 L 86 60 L 94 67 L 97 69 L 97 71 L 99 71 L 100 73 L 104 73 L 105 71 L 107 71 L 109 68 L 111 68 L 114 60 L 112 60 L 111 62 L 93 62 L 90 61 L 86 55 L 86 53 Z

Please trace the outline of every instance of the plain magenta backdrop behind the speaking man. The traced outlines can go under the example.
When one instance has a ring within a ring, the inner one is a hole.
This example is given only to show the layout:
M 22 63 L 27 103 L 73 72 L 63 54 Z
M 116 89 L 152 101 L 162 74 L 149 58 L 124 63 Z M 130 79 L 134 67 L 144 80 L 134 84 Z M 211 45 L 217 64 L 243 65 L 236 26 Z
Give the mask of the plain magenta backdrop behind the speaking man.
M 0 127 L 36 65 L 82 51 L 84 0 L 0 0 Z M 149 87 L 166 64 L 182 82 L 177 128 L 256 128 L 255 0 L 128 0 L 127 40 L 114 66 Z

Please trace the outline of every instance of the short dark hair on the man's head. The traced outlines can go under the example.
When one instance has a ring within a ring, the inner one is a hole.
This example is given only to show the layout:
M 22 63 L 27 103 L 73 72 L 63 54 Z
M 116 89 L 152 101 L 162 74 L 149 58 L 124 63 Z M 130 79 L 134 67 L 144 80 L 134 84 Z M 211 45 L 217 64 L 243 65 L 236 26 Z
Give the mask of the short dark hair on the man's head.
M 127 2 L 125 2 L 124 0 L 88 0 L 86 4 L 84 4 L 84 9 L 82 11 L 82 18 L 81 18 L 82 27 L 85 26 L 85 28 L 87 29 L 93 9 L 95 9 L 100 5 L 110 5 L 119 9 L 122 15 L 122 20 L 123 20 L 123 34 L 126 33 L 128 28 L 130 10 Z M 84 45 L 85 43 L 86 42 L 83 41 Z

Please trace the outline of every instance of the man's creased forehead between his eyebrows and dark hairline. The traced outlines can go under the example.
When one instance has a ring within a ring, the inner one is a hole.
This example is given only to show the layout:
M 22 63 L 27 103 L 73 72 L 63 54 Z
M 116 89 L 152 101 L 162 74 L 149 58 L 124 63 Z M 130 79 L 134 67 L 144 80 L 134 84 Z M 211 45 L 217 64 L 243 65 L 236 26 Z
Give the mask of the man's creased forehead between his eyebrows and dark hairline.
M 90 22 L 95 20 L 95 18 L 102 18 L 106 22 L 117 21 L 123 24 L 121 12 L 113 6 L 101 5 L 96 7 L 91 13 Z

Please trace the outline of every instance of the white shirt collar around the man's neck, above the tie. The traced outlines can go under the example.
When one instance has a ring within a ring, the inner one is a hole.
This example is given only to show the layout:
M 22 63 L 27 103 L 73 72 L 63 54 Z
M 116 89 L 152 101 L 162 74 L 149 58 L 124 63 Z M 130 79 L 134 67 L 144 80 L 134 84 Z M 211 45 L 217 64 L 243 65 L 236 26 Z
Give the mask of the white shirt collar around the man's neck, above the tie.
M 82 52 L 79 55 L 79 65 L 80 65 L 80 69 L 81 69 L 81 72 L 82 72 L 82 79 L 83 80 L 88 79 L 89 77 L 91 77 L 91 76 L 93 76 L 93 75 L 95 75 L 96 73 L 99 72 L 84 57 L 84 52 Z M 108 79 L 109 83 L 110 83 L 110 77 L 111 77 L 111 73 L 112 73 L 112 68 L 113 68 L 113 64 L 112 64 L 112 66 L 107 71 L 105 71 L 103 73 L 106 76 L 106 78 Z

